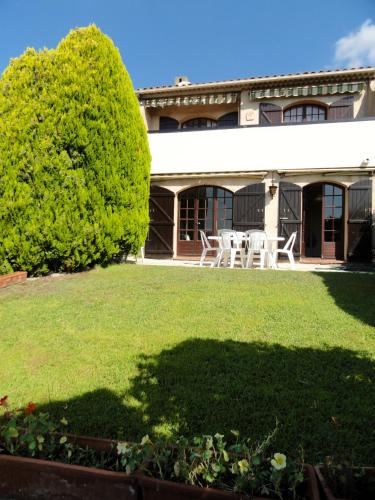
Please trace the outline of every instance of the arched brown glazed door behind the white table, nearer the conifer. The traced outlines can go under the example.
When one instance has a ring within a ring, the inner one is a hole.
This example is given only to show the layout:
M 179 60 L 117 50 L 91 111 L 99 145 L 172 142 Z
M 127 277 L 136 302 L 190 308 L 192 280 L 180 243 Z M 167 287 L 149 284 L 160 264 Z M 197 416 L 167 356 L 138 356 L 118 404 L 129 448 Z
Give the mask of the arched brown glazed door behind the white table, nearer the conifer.
M 215 236 L 218 229 L 232 229 L 233 194 L 217 186 L 199 186 L 178 196 L 177 252 L 200 255 L 199 231 Z

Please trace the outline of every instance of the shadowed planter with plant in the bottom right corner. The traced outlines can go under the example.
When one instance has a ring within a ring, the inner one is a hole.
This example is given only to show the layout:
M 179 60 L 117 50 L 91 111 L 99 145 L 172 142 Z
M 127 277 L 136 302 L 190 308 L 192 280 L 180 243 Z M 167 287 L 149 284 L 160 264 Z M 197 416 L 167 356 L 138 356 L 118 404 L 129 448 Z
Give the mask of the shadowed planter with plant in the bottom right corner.
M 369 500 L 375 498 L 375 469 L 334 463 L 327 458 L 315 467 L 321 496 L 327 500 Z

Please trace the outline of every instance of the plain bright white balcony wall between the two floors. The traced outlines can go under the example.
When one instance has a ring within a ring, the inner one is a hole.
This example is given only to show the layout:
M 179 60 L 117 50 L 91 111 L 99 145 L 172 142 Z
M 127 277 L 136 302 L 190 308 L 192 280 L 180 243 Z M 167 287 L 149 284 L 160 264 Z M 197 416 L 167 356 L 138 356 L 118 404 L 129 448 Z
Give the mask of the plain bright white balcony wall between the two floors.
M 149 134 L 152 174 L 375 167 L 375 120 Z

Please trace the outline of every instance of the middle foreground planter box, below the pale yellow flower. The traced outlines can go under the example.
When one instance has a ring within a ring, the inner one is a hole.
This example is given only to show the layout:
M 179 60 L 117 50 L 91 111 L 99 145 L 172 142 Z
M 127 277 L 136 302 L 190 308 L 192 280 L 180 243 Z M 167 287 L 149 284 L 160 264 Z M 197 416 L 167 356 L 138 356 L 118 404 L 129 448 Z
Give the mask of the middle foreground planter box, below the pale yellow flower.
M 319 500 L 318 483 L 314 468 L 311 465 L 304 466 L 306 483 L 304 495 L 308 500 Z M 245 495 L 217 490 L 214 488 L 199 488 L 172 481 L 162 481 L 152 477 L 138 476 L 138 484 L 142 490 L 143 500 L 245 500 Z M 252 500 L 264 500 L 265 497 L 253 497 Z M 269 500 L 269 499 L 268 499 Z

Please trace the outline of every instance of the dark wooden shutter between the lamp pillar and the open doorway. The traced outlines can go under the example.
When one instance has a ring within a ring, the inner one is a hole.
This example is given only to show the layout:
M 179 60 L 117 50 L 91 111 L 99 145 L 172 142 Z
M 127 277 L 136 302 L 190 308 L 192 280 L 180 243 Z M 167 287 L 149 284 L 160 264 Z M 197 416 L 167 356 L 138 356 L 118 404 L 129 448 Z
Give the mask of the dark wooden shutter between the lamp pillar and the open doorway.
M 279 236 L 284 236 L 285 241 L 280 242 L 283 247 L 290 235 L 297 231 L 294 244 L 295 255 L 301 253 L 301 225 L 302 225 L 302 188 L 291 182 L 279 183 Z

